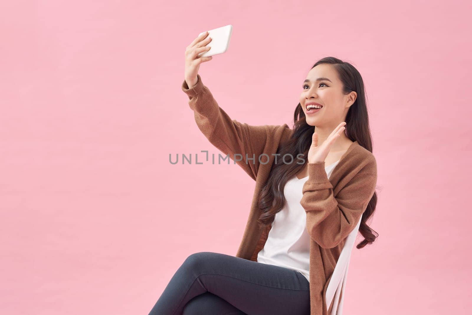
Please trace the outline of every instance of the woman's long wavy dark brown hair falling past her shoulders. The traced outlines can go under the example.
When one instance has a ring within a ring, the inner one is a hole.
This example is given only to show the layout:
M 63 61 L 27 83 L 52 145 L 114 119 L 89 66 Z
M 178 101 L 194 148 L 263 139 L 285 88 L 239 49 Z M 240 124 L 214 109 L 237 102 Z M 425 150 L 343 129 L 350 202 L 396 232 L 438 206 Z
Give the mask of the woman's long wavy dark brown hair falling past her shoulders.
M 349 107 L 346 114 L 346 136 L 351 141 L 357 141 L 362 147 L 372 152 L 371 130 L 369 128 L 364 83 L 359 71 L 350 63 L 334 57 L 322 58 L 316 62 L 312 68 L 323 63 L 334 66 L 343 83 L 344 94 L 348 94 L 352 91 L 357 93 L 354 104 Z M 300 103 L 298 103 L 295 108 L 293 129 L 293 135 L 290 139 L 280 144 L 277 153 L 280 154 L 280 157 L 283 157 L 285 154 L 290 154 L 294 158 L 297 157 L 298 154 L 303 154 L 303 158 L 306 161 L 308 150 L 312 144 L 313 126 L 306 123 L 305 113 Z M 258 222 L 261 227 L 265 228 L 272 224 L 275 214 L 281 211 L 285 204 L 283 194 L 285 185 L 304 167 L 303 164 L 283 163 L 281 158 L 279 158 L 277 162 L 277 164 L 274 163 L 272 166 L 269 179 L 262 189 L 259 198 L 259 208 L 262 213 L 261 216 L 259 216 Z M 379 234 L 373 231 L 366 223 L 374 213 L 376 205 L 377 193 L 374 192 L 371 201 L 369 201 L 366 210 L 362 214 L 359 232 L 364 237 L 364 240 L 356 245 L 358 249 L 373 243 L 379 236 Z

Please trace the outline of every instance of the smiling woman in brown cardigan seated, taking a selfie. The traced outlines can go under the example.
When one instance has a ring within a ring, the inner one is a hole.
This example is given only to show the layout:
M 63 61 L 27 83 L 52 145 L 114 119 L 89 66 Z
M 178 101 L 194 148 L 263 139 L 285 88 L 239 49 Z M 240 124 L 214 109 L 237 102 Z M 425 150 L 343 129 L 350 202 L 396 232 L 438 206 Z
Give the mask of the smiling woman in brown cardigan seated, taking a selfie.
M 346 236 L 361 220 L 365 239 L 356 247 L 376 239 L 366 224 L 377 163 L 362 77 L 323 58 L 303 82 L 293 130 L 240 123 L 197 74 L 211 60 L 197 58 L 209 50 L 207 35 L 185 51 L 182 90 L 202 133 L 256 181 L 254 199 L 236 257 L 190 255 L 149 314 L 330 314 L 326 289 Z

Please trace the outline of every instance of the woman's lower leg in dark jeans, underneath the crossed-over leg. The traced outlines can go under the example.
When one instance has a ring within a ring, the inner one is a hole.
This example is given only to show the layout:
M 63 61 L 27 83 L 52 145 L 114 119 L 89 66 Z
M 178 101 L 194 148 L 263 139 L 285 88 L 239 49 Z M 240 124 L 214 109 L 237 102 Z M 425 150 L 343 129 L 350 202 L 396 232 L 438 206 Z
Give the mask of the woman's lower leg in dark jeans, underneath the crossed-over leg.
M 192 298 L 184 307 L 183 315 L 247 315 L 213 293 L 206 292 Z

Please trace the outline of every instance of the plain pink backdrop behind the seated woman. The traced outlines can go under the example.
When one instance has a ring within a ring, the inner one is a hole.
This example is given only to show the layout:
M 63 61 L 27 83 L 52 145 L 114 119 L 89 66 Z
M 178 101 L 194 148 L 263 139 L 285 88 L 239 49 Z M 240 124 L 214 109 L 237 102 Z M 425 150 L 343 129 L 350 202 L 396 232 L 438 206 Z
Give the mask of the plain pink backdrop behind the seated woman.
M 219 153 L 180 85 L 185 47 L 228 24 L 199 73 L 233 119 L 291 125 L 326 56 L 364 79 L 379 238 L 345 313 L 472 307 L 471 2 L 288 3 L 1 1 L 1 314 L 148 314 L 188 255 L 236 255 L 253 180 L 169 163 Z

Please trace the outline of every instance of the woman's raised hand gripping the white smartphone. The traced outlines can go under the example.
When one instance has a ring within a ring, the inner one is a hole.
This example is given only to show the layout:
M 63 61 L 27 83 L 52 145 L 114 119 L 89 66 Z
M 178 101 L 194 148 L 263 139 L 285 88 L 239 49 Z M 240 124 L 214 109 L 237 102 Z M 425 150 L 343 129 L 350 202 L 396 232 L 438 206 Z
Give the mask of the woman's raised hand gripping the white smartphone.
M 185 49 L 185 82 L 189 89 L 197 83 L 200 64 L 212 59 L 212 56 L 197 58 L 200 53 L 210 50 L 211 47 L 206 46 L 210 41 L 211 37 L 208 36 L 208 32 L 205 32 L 195 38 Z

